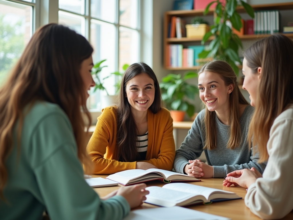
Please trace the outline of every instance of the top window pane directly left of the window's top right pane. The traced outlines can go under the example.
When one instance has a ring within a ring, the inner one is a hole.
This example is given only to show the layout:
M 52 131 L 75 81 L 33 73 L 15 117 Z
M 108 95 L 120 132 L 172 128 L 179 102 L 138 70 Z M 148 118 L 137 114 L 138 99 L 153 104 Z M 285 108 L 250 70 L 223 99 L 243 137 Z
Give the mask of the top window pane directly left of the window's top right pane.
M 91 17 L 114 23 L 116 0 L 91 0 Z

